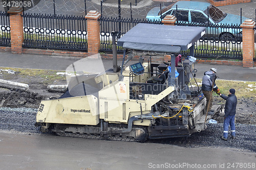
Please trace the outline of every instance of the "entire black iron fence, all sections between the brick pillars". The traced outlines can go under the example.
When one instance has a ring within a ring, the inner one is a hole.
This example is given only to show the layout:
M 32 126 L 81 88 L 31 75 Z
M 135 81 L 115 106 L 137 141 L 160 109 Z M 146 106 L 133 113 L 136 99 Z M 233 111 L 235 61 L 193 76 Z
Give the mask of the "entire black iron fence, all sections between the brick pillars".
M 0 18 L 0 45 L 10 46 L 9 14 L 0 11 Z M 83 16 L 25 13 L 23 18 L 23 47 L 87 51 L 87 19 Z M 101 52 L 112 52 L 112 31 L 118 32 L 120 37 L 138 23 L 163 24 L 161 21 L 118 17 L 100 17 L 99 22 Z M 213 25 L 182 21 L 178 21 L 177 25 L 206 28 L 206 35 L 195 44 L 196 57 L 243 59 L 240 25 Z M 231 35 L 230 32 L 233 34 Z M 118 47 L 117 50 L 122 52 L 121 47 Z M 188 51 L 182 53 L 184 55 L 189 54 Z

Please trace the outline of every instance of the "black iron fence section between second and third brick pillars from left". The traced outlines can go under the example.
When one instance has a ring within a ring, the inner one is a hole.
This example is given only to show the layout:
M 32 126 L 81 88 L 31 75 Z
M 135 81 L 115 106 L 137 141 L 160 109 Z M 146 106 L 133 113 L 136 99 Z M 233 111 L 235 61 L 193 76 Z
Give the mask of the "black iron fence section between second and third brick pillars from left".
M 161 21 L 147 21 L 144 19 L 130 19 L 130 18 L 109 18 L 100 17 L 100 51 L 112 52 L 112 36 L 111 32 L 118 32 L 118 37 L 124 35 L 127 31 L 131 30 L 138 23 L 154 23 L 163 24 Z M 117 51 L 122 52 L 122 48 L 117 46 Z

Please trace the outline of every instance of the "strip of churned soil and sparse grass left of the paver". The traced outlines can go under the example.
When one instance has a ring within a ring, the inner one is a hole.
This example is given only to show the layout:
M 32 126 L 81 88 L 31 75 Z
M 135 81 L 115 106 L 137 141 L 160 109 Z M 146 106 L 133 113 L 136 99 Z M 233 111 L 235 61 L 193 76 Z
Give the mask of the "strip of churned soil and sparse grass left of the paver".
M 50 75 L 50 74 L 49 74 Z M 47 75 L 44 75 L 47 77 Z M 49 84 L 66 84 L 65 76 L 62 80 L 45 79 L 42 76 L 24 76 L 19 71 L 0 70 L 0 79 L 29 85 L 28 91 L 6 89 L 0 87 L 0 107 L 30 107 L 38 108 L 42 100 L 58 99 L 60 92 L 49 92 Z

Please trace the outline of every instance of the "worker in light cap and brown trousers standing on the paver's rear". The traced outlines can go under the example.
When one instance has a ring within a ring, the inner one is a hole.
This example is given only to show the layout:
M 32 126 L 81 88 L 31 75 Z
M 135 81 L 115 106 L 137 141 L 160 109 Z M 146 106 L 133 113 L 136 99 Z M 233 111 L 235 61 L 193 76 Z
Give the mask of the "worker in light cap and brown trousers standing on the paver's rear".
M 208 115 L 213 115 L 214 112 L 211 110 L 212 106 L 212 89 L 220 94 L 220 89 L 217 87 L 217 85 L 214 83 L 214 87 L 212 88 L 212 81 L 215 82 L 217 76 L 216 76 L 217 69 L 211 68 L 209 71 L 204 72 L 204 77 L 202 81 L 202 91 L 204 93 L 204 96 L 206 98 L 206 108 L 208 109 Z M 209 106 L 208 106 L 209 105 Z

